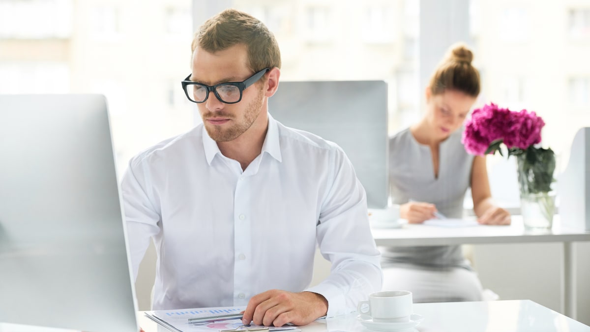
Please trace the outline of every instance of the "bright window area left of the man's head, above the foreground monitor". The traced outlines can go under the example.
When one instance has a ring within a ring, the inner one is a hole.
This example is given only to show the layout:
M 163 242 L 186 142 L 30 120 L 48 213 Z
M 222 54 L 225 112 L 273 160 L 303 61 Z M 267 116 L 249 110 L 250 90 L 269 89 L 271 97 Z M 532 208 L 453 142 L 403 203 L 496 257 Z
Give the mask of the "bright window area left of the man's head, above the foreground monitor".
M 194 123 L 192 106 L 179 102 L 186 99 L 180 82 L 190 70 L 188 5 L 2 0 L 0 93 L 105 95 L 123 174 L 133 155 Z

